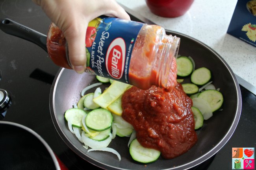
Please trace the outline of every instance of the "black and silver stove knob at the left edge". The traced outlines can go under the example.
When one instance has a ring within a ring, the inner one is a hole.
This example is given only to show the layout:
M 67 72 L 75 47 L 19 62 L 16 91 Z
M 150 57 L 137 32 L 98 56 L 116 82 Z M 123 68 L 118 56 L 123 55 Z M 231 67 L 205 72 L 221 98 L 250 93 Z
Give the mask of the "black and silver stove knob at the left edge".
M 0 89 L 0 120 L 4 119 L 7 109 L 11 106 L 11 97 L 6 90 Z

